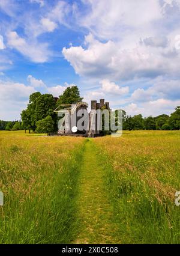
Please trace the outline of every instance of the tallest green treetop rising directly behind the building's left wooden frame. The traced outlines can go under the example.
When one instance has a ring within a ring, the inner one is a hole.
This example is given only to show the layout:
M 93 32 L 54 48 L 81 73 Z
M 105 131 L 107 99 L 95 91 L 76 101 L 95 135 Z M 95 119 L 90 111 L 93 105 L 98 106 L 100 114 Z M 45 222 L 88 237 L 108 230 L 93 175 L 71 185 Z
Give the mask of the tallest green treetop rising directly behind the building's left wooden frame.
M 83 100 L 82 97 L 80 97 L 79 89 L 77 86 L 67 87 L 64 93 L 59 96 L 59 99 L 57 100 L 57 107 L 61 104 L 73 104 L 75 102 L 81 102 Z

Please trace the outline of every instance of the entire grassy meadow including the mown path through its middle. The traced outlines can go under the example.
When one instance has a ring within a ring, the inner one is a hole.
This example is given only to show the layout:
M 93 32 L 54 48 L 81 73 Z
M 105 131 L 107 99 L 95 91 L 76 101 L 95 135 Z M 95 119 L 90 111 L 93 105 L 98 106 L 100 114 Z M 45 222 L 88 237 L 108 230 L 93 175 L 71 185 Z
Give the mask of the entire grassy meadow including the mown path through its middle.
M 0 243 L 180 243 L 180 132 L 0 132 Z

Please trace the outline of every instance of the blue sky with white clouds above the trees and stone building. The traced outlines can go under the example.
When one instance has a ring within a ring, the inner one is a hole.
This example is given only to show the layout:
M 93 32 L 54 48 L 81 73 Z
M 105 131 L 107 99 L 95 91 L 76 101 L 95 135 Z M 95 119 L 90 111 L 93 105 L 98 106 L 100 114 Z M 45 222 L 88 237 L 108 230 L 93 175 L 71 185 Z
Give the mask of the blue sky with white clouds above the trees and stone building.
M 1 0 L 0 119 L 76 84 L 129 115 L 180 105 L 180 0 Z

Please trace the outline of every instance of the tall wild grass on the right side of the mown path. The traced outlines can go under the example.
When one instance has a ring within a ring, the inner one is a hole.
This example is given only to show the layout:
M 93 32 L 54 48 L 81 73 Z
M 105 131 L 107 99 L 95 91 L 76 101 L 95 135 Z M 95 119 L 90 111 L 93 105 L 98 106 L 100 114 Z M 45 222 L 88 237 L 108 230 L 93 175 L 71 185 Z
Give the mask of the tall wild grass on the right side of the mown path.
M 122 243 L 180 243 L 180 132 L 95 139 Z

